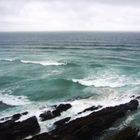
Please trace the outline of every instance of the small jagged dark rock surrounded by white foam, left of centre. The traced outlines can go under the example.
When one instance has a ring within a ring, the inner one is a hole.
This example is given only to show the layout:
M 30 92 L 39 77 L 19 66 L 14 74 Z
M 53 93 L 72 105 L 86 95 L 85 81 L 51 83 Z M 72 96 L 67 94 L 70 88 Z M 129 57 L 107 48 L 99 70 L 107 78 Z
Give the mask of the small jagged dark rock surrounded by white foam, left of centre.
M 41 121 L 50 120 L 57 116 L 60 116 L 61 112 L 66 111 L 71 107 L 71 104 L 60 104 L 55 108 L 55 110 L 43 112 L 39 117 L 41 118 Z

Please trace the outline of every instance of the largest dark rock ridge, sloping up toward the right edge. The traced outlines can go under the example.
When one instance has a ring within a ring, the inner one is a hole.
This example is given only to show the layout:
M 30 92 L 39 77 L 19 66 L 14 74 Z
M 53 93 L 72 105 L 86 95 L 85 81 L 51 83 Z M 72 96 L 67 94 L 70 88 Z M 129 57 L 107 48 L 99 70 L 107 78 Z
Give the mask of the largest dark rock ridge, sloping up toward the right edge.
M 56 128 L 51 134 L 58 136 L 59 139 L 92 140 L 93 136 L 100 135 L 119 118 L 124 117 L 128 110 L 132 111 L 137 107 L 137 100 L 119 106 L 107 107 L 88 116 L 72 120 L 62 125 L 61 128 Z

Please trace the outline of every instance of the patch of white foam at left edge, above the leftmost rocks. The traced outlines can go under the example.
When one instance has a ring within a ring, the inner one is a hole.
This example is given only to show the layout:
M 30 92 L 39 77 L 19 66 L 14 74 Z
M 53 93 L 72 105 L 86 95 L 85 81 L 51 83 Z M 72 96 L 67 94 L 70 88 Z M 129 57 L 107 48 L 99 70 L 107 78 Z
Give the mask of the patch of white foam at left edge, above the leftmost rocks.
M 0 93 L 0 101 L 10 106 L 26 105 L 30 103 L 26 96 L 14 96 L 3 93 Z

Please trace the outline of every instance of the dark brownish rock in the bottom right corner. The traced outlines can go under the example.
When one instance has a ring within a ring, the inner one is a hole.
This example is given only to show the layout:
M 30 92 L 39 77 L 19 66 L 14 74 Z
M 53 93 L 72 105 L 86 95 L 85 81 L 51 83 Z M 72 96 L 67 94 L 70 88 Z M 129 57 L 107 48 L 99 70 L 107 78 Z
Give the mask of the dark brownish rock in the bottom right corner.
M 138 129 L 126 127 L 113 135 L 109 140 L 135 140 L 138 135 Z

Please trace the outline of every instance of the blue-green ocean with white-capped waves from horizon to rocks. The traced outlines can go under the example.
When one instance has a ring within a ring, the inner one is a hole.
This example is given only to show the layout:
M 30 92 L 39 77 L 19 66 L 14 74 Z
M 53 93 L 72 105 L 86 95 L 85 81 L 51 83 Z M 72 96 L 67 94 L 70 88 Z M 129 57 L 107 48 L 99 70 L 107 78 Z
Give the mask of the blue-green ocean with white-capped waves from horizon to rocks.
M 0 33 L 0 117 L 70 102 L 77 112 L 114 106 L 140 96 L 140 33 Z M 123 125 L 140 128 L 140 111 Z M 50 129 L 60 117 L 41 123 Z

